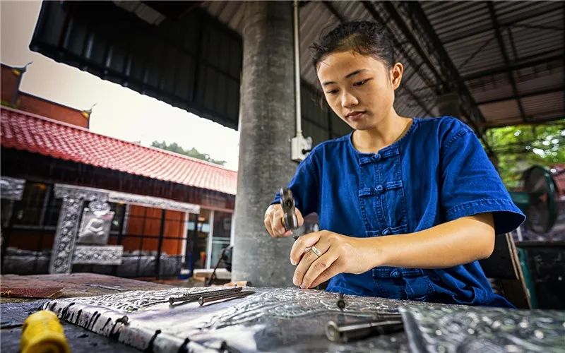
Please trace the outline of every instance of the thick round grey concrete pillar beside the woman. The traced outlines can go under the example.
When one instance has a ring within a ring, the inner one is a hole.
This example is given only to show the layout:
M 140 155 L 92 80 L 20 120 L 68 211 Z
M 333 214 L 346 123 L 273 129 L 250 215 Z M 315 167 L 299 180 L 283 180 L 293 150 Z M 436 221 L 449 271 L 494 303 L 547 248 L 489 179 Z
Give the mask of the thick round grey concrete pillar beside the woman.
M 271 239 L 263 214 L 297 167 L 290 160 L 295 134 L 292 3 L 246 1 L 244 23 L 232 280 L 287 287 L 294 273 L 293 239 Z

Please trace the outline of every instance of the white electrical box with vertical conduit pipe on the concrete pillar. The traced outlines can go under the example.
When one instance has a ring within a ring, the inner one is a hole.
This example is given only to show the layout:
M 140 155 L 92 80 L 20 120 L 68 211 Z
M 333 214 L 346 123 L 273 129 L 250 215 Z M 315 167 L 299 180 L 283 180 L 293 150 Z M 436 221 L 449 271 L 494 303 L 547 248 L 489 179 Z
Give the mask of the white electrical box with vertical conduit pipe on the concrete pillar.
M 295 94 L 296 94 L 296 136 L 290 139 L 290 159 L 301 162 L 312 150 L 312 138 L 302 135 L 302 116 L 300 109 L 300 42 L 298 25 L 298 1 L 294 1 L 295 26 Z

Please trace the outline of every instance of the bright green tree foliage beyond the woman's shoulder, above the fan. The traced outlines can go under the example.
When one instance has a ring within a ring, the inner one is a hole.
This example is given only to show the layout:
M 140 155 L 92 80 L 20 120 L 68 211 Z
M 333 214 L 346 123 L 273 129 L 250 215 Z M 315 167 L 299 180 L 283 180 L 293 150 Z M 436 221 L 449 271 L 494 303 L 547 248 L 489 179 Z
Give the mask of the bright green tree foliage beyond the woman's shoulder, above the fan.
M 511 189 L 520 185 L 522 173 L 535 164 L 551 167 L 565 163 L 565 122 L 491 128 L 487 140 L 498 161 L 502 181 Z

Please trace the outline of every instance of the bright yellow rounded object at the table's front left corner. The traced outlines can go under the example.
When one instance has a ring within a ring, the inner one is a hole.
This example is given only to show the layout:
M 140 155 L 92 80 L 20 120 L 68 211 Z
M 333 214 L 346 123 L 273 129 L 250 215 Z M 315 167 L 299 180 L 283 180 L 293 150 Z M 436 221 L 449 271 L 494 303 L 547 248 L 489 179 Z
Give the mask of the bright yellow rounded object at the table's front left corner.
M 49 310 L 37 311 L 25 319 L 20 353 L 70 353 L 63 326 Z

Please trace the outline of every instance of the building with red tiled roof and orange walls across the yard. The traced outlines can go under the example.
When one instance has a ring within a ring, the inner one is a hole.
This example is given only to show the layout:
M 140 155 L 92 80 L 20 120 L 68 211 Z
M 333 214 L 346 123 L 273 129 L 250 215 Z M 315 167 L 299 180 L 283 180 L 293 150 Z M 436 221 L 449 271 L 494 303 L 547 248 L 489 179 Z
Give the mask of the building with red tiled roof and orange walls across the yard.
M 2 273 L 176 277 L 232 243 L 237 172 L 88 130 L 2 65 Z M 229 267 L 229 261 L 220 267 Z

